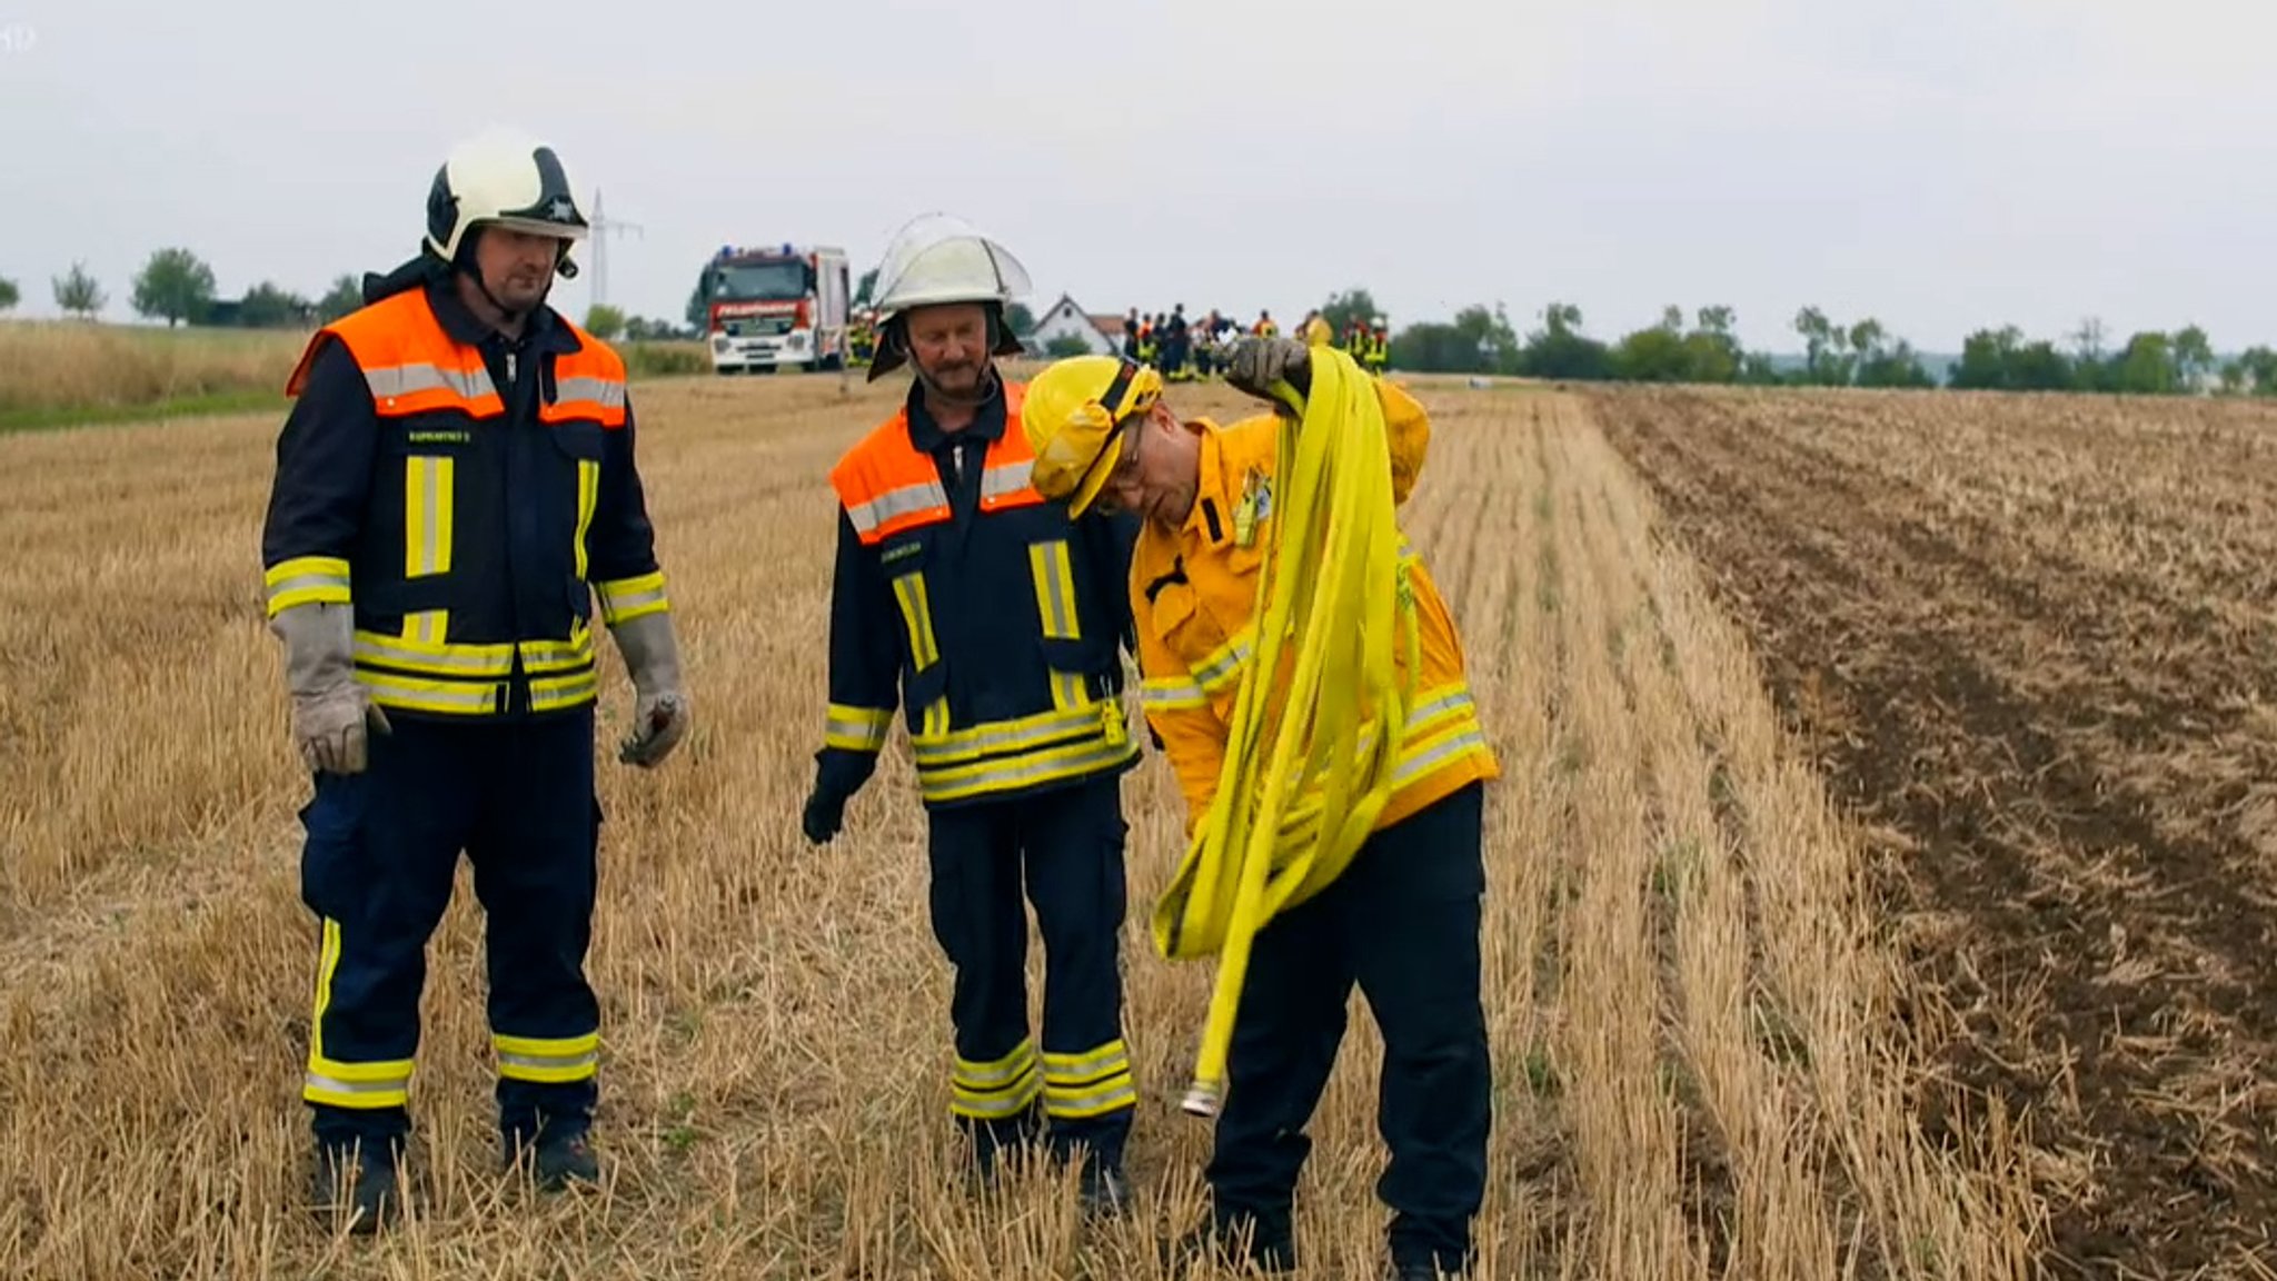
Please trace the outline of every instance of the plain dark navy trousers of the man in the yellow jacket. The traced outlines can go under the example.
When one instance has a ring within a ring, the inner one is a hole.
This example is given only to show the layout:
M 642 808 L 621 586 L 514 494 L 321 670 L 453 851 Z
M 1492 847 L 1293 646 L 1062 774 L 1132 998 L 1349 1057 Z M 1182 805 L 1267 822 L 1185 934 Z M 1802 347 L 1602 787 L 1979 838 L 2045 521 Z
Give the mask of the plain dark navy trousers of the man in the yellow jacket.
M 1316 898 L 1257 932 L 1207 1178 L 1225 1229 L 1287 1245 L 1353 982 L 1384 1037 L 1378 1131 L 1398 1263 L 1455 1272 L 1485 1199 L 1491 1076 L 1480 1007 L 1485 786 L 1375 832 Z

